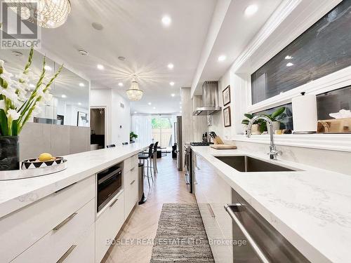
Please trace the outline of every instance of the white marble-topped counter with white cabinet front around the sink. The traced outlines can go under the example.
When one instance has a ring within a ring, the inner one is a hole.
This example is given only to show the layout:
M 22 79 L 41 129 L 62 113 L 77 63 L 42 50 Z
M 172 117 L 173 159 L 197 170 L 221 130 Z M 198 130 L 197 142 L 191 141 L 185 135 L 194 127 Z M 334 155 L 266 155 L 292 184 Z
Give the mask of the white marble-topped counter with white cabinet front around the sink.
M 230 191 L 234 189 L 310 262 L 351 261 L 350 175 L 288 161 L 270 161 L 267 156 L 239 150 L 210 147 L 192 150 L 195 195 L 200 211 L 206 215 L 210 210 L 210 216 L 205 216 L 206 219 L 203 216 L 205 227 L 211 226 L 206 229 L 209 236 L 232 238 L 228 235 L 232 234 L 229 227 L 232 219 L 223 205 L 232 201 Z M 216 156 L 251 156 L 294 171 L 243 173 Z M 209 181 L 210 177 L 213 180 Z M 201 208 L 204 202 L 208 209 Z M 215 224 L 219 225 L 220 234 L 213 231 Z M 232 250 L 225 251 L 223 246 L 213 249 L 215 257 L 223 259 L 225 253 L 230 255 Z

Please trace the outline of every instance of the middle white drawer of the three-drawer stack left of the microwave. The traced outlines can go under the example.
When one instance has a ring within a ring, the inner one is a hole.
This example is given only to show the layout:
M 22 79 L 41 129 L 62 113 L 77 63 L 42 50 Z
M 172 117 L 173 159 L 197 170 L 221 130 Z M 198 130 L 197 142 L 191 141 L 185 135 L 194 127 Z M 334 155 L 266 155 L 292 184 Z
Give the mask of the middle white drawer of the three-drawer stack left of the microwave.
M 95 220 L 95 198 L 16 257 L 14 263 L 57 262 Z

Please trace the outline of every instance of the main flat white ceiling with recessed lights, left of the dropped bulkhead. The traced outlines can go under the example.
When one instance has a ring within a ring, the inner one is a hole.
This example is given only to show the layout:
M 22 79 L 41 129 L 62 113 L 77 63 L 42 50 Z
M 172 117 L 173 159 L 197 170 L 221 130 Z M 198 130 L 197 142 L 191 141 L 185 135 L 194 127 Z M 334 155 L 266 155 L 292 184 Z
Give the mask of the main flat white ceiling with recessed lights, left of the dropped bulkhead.
M 145 93 L 140 102 L 132 103 L 133 112 L 179 112 L 179 89 L 191 86 L 216 0 L 71 3 L 72 13 L 62 27 L 42 29 L 44 50 L 88 76 L 92 88 L 114 88 L 125 95 L 131 76 L 138 74 Z M 170 27 L 161 24 L 163 15 L 171 17 Z M 104 29 L 93 29 L 92 22 Z M 80 48 L 88 56 L 80 55 Z M 118 60 L 119 56 L 126 60 Z M 173 70 L 167 68 L 169 62 Z M 97 64 L 105 70 L 98 70 Z M 124 87 L 117 85 L 119 81 Z M 176 83 L 173 87 L 171 81 Z

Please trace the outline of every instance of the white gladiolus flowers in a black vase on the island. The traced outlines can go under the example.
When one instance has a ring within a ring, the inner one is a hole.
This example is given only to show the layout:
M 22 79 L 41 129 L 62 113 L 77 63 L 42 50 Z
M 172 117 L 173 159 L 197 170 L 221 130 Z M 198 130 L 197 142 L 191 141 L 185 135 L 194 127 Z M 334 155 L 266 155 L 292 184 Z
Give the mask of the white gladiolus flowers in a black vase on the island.
M 19 69 L 18 74 L 7 72 L 4 60 L 0 60 L 0 170 L 20 168 L 18 135 L 32 114 L 39 113 L 41 106 L 52 100 L 51 84 L 63 67 L 44 83 L 45 57 L 39 79 L 36 79 L 30 69 L 33 54 L 32 47 L 25 68 Z M 32 91 L 29 82 L 37 83 Z

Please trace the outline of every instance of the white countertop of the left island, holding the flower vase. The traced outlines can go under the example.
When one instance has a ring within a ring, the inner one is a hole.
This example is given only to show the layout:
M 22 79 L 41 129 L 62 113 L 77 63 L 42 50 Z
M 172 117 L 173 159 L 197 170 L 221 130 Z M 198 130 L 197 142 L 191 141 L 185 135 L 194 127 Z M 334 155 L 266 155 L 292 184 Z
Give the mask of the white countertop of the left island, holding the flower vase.
M 104 170 L 105 168 L 108 168 L 110 166 L 113 166 L 116 163 L 120 163 L 121 161 L 124 161 L 125 159 L 128 159 L 129 157 L 138 154 L 140 151 L 143 151 L 147 149 L 147 146 L 145 145 L 138 145 L 138 144 L 129 144 L 131 147 L 124 146 L 124 147 L 116 147 L 115 149 L 100 149 L 100 150 L 95 150 L 95 151 L 84 151 L 79 154 L 71 154 L 64 156 L 68 162 L 68 168 L 69 166 L 72 166 L 73 162 L 69 162 L 69 159 L 77 159 L 79 155 L 86 155 L 86 154 L 99 154 L 102 153 L 102 151 L 109 151 L 109 153 L 114 153 L 116 154 L 116 151 L 118 152 L 119 150 L 124 151 L 124 152 L 119 152 L 117 157 L 110 159 L 109 161 L 102 161 L 100 164 L 93 166 L 91 168 L 86 168 L 86 169 L 81 169 L 79 172 L 74 172 L 72 175 L 69 175 L 70 170 L 67 168 L 67 170 L 63 170 L 58 173 L 53 173 L 51 175 L 43 175 L 39 177 L 32 177 L 32 178 L 25 178 L 25 179 L 16 179 L 16 180 L 4 180 L 0 181 L 0 218 L 4 217 L 10 213 L 13 213 L 15 210 L 19 210 L 20 208 L 24 208 L 25 206 L 34 203 L 35 201 L 38 201 L 41 198 L 44 198 L 50 194 L 53 194 L 55 191 L 58 191 L 62 189 L 63 187 L 67 187 L 70 184 L 73 184 L 74 182 L 79 182 L 81 180 L 86 179 L 87 177 L 90 177 L 92 175 L 95 175 L 95 173 L 98 173 L 101 170 Z M 128 151 L 128 148 L 131 148 Z M 17 171 L 18 172 L 18 171 Z M 68 175 L 66 175 L 68 173 Z M 62 175 L 62 177 L 58 177 L 58 175 Z M 55 180 L 57 178 L 57 180 Z M 43 181 L 43 182 L 41 182 Z M 48 183 L 46 183 L 48 181 Z M 27 182 L 32 182 L 36 183 L 37 186 L 32 186 L 28 187 L 26 186 Z M 19 194 L 11 194 L 11 196 L 4 196 L 1 195 L 1 188 L 2 187 L 8 187 L 8 185 L 11 185 L 12 188 L 16 187 L 16 184 L 18 184 L 18 188 L 20 189 Z M 28 189 L 28 191 L 27 191 Z

